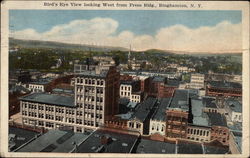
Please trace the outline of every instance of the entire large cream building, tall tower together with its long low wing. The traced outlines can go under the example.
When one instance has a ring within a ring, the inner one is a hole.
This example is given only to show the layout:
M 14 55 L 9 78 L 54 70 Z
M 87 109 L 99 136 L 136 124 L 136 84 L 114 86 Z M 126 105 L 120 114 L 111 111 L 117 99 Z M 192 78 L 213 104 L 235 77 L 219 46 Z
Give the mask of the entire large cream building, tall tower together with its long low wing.
M 75 96 L 33 93 L 21 97 L 24 124 L 45 128 L 96 129 L 118 113 L 119 72 L 86 71 L 75 75 Z

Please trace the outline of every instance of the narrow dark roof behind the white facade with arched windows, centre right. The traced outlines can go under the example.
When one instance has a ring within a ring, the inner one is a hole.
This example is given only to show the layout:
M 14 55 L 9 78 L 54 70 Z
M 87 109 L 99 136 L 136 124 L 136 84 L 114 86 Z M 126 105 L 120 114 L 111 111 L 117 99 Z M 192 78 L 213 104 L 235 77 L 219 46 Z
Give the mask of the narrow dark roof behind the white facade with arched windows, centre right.
M 162 98 L 160 99 L 160 105 L 156 109 L 155 113 L 152 116 L 152 120 L 166 120 L 166 109 L 169 106 L 171 98 Z

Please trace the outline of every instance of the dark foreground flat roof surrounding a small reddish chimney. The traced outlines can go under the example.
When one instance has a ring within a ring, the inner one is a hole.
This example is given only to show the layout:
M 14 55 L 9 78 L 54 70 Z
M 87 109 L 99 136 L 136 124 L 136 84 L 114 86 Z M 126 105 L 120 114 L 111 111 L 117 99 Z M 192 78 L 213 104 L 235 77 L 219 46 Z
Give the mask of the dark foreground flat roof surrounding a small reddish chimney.
M 101 143 L 101 138 L 106 137 L 107 144 Z M 86 141 L 81 143 L 78 153 L 130 153 L 138 136 L 115 133 L 105 130 L 96 130 Z

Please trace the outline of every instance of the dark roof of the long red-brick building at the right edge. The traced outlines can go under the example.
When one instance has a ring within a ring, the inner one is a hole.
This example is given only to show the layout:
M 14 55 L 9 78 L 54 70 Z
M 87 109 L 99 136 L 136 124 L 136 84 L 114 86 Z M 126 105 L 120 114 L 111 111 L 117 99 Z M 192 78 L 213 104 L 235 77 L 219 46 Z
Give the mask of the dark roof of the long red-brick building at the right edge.
M 242 85 L 237 82 L 209 81 L 208 84 L 215 88 L 242 88 Z

